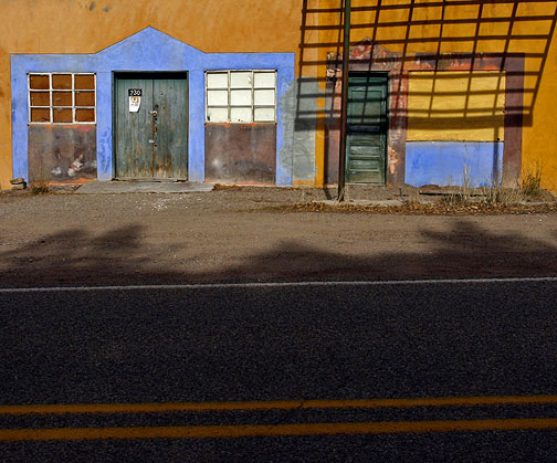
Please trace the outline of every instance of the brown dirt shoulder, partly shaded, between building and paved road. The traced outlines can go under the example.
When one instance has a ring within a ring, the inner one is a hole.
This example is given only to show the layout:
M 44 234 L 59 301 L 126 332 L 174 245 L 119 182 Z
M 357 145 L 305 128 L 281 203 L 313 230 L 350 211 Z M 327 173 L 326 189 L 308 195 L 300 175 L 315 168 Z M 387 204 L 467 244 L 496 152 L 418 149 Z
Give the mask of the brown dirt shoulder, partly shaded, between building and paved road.
M 381 190 L 381 200 L 396 200 L 397 190 Z M 557 275 L 557 213 L 550 203 L 545 210 L 481 215 L 357 208 L 316 213 L 296 206 L 322 203 L 334 193 L 217 188 L 186 194 L 1 194 L 0 284 Z

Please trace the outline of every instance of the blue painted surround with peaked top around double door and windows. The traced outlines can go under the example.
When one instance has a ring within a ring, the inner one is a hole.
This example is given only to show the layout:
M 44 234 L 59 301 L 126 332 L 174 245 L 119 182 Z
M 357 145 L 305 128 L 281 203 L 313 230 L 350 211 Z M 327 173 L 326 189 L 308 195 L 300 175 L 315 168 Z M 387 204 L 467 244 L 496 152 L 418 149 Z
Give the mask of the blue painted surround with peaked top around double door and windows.
M 276 70 L 277 101 L 291 97 L 294 53 L 203 53 L 153 28 L 144 29 L 95 54 L 15 54 L 11 56 L 13 177 L 28 179 L 29 72 L 94 72 L 97 76 L 98 180 L 114 178 L 114 72 L 187 71 L 189 73 L 189 179 L 204 180 L 204 72 Z M 277 107 L 276 185 L 292 185 L 293 133 L 285 128 L 284 104 Z

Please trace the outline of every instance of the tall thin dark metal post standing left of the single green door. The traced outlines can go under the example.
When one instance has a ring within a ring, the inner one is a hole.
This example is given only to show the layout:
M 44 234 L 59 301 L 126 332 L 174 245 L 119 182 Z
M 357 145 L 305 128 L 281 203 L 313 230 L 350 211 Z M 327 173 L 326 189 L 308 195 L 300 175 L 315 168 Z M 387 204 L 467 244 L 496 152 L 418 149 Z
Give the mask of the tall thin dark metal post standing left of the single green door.
M 348 129 L 348 73 L 350 70 L 350 7 L 351 0 L 344 0 L 344 44 L 343 44 L 343 96 L 340 99 L 340 151 L 338 154 L 337 201 L 344 201 L 346 178 L 346 134 Z

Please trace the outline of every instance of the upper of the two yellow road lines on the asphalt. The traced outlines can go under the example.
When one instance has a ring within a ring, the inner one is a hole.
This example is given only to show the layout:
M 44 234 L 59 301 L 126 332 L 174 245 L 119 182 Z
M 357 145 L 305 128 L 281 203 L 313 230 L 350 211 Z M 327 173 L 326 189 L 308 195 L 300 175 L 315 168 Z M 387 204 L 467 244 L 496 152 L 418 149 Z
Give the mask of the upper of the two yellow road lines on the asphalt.
M 423 399 L 282 400 L 253 402 L 168 402 L 0 406 L 0 415 L 66 413 L 168 413 L 295 409 L 375 409 L 412 407 L 476 407 L 556 403 L 557 396 L 446 397 Z

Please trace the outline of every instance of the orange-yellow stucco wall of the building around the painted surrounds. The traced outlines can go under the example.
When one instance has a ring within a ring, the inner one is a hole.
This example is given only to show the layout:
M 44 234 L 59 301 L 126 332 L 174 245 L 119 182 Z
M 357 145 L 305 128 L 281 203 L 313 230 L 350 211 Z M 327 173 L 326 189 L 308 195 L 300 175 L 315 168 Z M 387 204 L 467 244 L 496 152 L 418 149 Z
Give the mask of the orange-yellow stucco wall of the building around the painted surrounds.
M 557 45 L 550 35 L 557 0 L 452 2 L 443 9 L 438 0 L 416 0 L 413 8 L 409 0 L 382 0 L 377 14 L 377 0 L 353 0 L 351 41 L 371 38 L 407 55 L 526 53 L 523 172 L 542 166 L 543 185 L 557 191 Z M 296 73 L 325 90 L 327 53 L 341 50 L 340 4 L 307 0 L 304 12 L 303 0 L 0 1 L 0 188 L 9 188 L 12 176 L 10 53 L 95 53 L 150 25 L 206 52 L 296 52 Z M 323 185 L 324 98 L 317 108 L 315 185 Z

